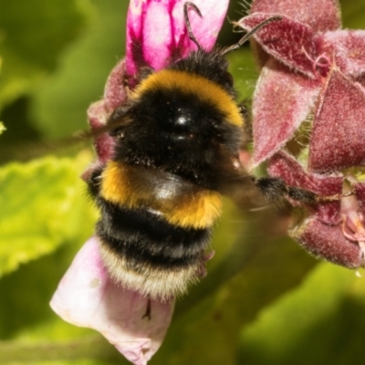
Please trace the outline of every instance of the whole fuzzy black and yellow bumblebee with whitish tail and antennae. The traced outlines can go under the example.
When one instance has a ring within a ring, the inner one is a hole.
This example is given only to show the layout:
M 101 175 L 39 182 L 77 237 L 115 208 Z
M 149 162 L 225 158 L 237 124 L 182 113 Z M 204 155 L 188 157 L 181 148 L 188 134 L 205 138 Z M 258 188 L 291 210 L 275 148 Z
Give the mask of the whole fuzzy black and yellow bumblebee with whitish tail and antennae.
M 121 286 L 167 300 L 201 276 L 223 194 L 247 180 L 238 161 L 245 110 L 224 55 L 198 49 L 160 71 L 143 71 L 108 120 L 113 157 L 90 174 L 101 255 Z M 270 21 L 276 20 L 272 18 Z M 265 26 L 265 24 L 260 25 Z

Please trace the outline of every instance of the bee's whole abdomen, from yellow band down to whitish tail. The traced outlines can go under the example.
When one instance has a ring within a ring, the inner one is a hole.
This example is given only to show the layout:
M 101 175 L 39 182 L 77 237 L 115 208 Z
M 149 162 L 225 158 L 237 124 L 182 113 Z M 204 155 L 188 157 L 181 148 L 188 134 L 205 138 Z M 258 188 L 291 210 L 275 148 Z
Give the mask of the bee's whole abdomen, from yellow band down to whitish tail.
M 110 161 L 95 198 L 103 260 L 118 283 L 167 299 L 199 278 L 220 193 L 169 172 Z

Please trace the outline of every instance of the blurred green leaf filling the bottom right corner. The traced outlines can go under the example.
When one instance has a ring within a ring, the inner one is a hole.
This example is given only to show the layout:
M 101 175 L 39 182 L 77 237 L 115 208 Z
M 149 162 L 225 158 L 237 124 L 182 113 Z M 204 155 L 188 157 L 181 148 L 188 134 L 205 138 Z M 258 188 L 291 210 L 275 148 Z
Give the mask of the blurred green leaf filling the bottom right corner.
M 238 363 L 356 363 L 365 354 L 364 284 L 354 271 L 322 263 L 243 330 Z

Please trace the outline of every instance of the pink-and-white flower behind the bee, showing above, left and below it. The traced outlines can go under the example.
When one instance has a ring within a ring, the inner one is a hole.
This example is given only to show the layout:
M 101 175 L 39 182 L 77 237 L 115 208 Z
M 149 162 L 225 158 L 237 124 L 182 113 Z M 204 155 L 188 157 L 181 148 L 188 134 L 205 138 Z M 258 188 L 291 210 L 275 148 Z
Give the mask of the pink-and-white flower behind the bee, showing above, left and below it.
M 142 68 L 159 70 L 196 49 L 183 20 L 184 0 L 132 0 L 127 21 L 127 55 L 112 69 L 104 98 L 88 110 L 92 130 L 102 128 L 110 114 L 126 103 L 129 88 L 138 83 Z M 214 47 L 222 26 L 227 0 L 195 0 L 203 17 L 189 11 L 193 34 L 205 49 Z M 95 141 L 98 161 L 110 160 L 114 141 L 101 134 Z M 161 302 L 115 285 L 99 254 L 99 243 L 90 238 L 61 280 L 51 301 L 57 314 L 77 326 L 99 330 L 128 360 L 146 364 L 159 349 L 169 327 L 174 300 Z M 151 316 L 150 316 L 151 315 Z

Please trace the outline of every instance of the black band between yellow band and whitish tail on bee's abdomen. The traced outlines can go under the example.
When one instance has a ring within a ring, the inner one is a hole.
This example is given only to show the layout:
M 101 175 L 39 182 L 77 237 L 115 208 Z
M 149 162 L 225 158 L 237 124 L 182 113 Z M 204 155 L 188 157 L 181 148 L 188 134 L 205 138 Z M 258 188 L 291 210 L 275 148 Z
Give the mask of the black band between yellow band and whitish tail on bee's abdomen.
M 209 245 L 211 229 L 169 224 L 147 209 L 123 208 L 100 197 L 97 203 L 101 211 L 97 235 L 115 255 L 125 258 L 130 268 L 196 265 Z

